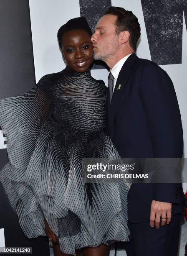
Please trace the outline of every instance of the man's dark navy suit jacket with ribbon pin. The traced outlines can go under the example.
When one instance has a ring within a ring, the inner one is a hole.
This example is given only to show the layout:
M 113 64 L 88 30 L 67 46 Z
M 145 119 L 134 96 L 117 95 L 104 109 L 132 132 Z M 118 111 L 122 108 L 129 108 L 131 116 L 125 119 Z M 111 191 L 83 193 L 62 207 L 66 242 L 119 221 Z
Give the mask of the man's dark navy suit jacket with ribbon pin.
M 128 57 L 111 104 L 108 100 L 107 130 L 121 158 L 182 158 L 179 106 L 172 80 L 163 69 L 136 54 Z M 132 184 L 129 221 L 149 221 L 152 200 L 172 202 L 172 214 L 181 212 L 182 194 L 181 184 Z

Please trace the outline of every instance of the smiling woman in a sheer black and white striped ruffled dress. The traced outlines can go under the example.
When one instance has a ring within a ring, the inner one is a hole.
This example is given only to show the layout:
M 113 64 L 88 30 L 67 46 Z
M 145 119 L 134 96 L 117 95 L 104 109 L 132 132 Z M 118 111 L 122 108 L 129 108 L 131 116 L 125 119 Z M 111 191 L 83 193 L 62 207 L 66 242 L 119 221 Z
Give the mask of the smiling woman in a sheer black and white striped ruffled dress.
M 67 67 L 30 92 L 0 101 L 9 162 L 0 180 L 28 238 L 45 236 L 57 255 L 109 255 L 128 241 L 126 180 L 85 184 L 82 159 L 119 155 L 104 132 L 104 82 L 91 77 L 91 30 L 85 18 L 58 31 Z

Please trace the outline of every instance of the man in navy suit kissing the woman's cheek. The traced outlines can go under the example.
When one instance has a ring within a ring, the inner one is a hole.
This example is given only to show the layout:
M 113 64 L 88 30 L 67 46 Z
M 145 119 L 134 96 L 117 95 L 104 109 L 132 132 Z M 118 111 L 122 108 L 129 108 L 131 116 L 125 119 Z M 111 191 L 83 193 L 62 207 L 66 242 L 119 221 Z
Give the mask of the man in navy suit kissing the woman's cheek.
M 134 52 L 140 37 L 136 16 L 110 7 L 92 35 L 94 58 L 110 68 L 107 128 L 122 158 L 181 158 L 182 124 L 171 79 Z M 177 256 L 181 184 L 132 184 L 128 255 Z

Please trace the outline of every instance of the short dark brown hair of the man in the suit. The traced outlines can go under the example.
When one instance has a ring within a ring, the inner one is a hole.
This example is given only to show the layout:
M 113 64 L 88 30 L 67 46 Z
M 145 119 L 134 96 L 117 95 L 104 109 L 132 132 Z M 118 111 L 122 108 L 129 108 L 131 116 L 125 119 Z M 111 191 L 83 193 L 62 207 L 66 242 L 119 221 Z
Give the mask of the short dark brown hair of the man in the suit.
M 131 11 L 114 6 L 109 7 L 104 14 L 112 14 L 117 16 L 116 33 L 119 34 L 121 31 L 129 31 L 129 44 L 134 51 L 136 51 L 136 45 L 141 34 L 137 17 Z

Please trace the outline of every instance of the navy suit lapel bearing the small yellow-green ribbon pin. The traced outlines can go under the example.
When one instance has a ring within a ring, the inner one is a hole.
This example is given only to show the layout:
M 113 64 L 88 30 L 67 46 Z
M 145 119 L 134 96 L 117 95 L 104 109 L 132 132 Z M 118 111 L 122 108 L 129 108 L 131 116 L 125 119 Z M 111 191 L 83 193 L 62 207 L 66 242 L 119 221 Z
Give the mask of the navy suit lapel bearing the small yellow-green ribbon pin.
M 129 58 L 125 61 L 124 65 L 122 66 L 118 79 L 116 81 L 116 86 L 114 89 L 114 93 L 112 95 L 111 104 L 108 104 L 108 125 L 111 127 L 114 122 L 114 117 L 117 111 L 117 107 L 119 104 L 119 100 L 121 98 L 121 95 L 124 91 L 124 88 L 126 86 L 126 83 L 130 77 L 130 74 L 132 72 L 132 65 L 134 64 L 134 61 L 138 59 L 136 54 L 131 54 Z M 109 100 L 108 100 L 109 102 Z

